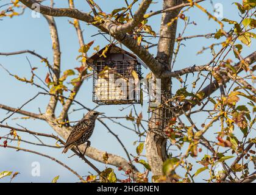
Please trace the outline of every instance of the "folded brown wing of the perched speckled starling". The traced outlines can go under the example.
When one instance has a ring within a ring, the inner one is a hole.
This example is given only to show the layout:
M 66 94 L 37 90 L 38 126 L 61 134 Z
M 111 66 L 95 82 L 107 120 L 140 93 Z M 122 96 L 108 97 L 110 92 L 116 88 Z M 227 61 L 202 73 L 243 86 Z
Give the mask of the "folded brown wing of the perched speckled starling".
M 83 125 L 82 123 L 87 123 L 87 125 Z M 74 143 L 74 141 L 77 141 L 88 129 L 90 129 L 92 126 L 91 122 L 88 121 L 80 121 L 76 124 L 76 126 L 73 127 L 72 132 L 69 134 L 68 140 L 66 140 L 66 146 L 69 146 L 71 143 Z

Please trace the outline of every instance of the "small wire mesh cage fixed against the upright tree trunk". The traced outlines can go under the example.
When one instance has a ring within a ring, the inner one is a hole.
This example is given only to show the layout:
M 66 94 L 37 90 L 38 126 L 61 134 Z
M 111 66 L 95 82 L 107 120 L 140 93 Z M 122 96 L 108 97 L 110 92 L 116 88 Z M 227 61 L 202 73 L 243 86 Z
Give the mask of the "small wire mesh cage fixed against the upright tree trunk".
M 149 130 L 162 132 L 170 127 L 172 118 L 170 98 L 170 94 L 162 93 L 161 104 L 149 108 Z

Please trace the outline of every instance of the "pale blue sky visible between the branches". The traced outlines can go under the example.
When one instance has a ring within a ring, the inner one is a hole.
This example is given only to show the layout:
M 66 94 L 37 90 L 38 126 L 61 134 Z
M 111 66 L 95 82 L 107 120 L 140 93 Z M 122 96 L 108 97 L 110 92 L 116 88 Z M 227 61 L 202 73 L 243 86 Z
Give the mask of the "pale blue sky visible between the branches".
M 7 0 L 0 1 L 1 4 L 5 4 L 9 2 Z M 68 7 L 68 1 L 55 1 L 56 7 Z M 102 7 L 104 12 L 110 13 L 113 9 L 117 9 L 119 7 L 125 6 L 124 1 L 120 0 L 108 0 L 96 1 Z M 235 5 L 232 5 L 232 2 L 241 2 L 238 1 L 213 1 L 213 4 L 221 3 L 223 5 L 223 17 L 229 18 L 233 20 L 238 20 L 238 10 Z M 84 12 L 89 12 L 90 9 L 85 1 L 75 1 L 76 8 L 82 10 Z M 213 13 L 212 4 L 210 1 L 203 2 L 203 5 L 210 13 Z M 152 4 L 149 10 L 160 10 L 162 7 L 162 1 L 156 1 L 155 4 Z M 210 32 L 216 32 L 216 29 L 219 29 L 218 24 L 216 24 L 212 20 L 208 20 L 205 13 L 201 12 L 196 8 L 191 9 L 189 12 L 185 13 L 186 16 L 190 16 L 191 21 L 195 21 L 197 26 L 189 26 L 185 32 L 185 35 L 196 35 L 196 34 L 207 34 Z M 77 40 L 77 35 L 74 30 L 74 27 L 69 24 L 69 20 L 71 18 L 55 18 L 57 23 L 57 29 L 59 31 L 60 38 L 60 48 L 62 52 L 62 71 L 65 69 L 72 69 L 74 67 L 79 66 L 79 62 L 76 60 L 79 49 L 79 44 Z M 91 37 L 91 35 L 97 34 L 98 29 L 93 26 L 88 26 L 85 23 L 80 23 L 82 29 L 84 30 L 83 34 L 85 37 L 85 42 L 88 43 L 94 40 L 94 46 L 100 45 L 101 47 L 107 44 L 107 41 L 101 36 L 98 35 L 96 37 Z M 158 32 L 160 25 L 160 15 L 154 16 L 149 20 L 149 24 L 151 24 L 152 28 Z M 36 51 L 38 54 L 43 57 L 48 57 L 49 62 L 52 61 L 52 44 L 49 36 L 49 28 L 46 20 L 43 16 L 40 18 L 32 18 L 31 11 L 26 10 L 24 15 L 15 17 L 13 19 L 4 18 L 4 20 L 0 21 L 1 30 L 0 30 L 0 52 L 13 52 L 20 51 L 23 49 L 30 49 L 32 51 Z M 226 25 L 225 29 L 229 30 L 231 26 Z M 182 32 L 183 30 L 183 22 L 179 20 L 179 25 L 177 29 L 177 34 Z M 157 39 L 150 40 L 154 43 L 157 43 Z M 176 65 L 174 69 L 182 69 L 191 65 L 203 65 L 211 59 L 210 51 L 205 51 L 204 54 L 196 55 L 197 51 L 201 50 L 203 46 L 210 46 L 212 43 L 216 43 L 216 40 L 212 39 L 204 39 L 204 38 L 196 38 L 192 40 L 188 40 L 183 42 L 185 46 L 182 46 L 180 49 L 180 54 L 177 57 Z M 252 51 L 255 51 L 255 45 L 252 44 L 251 48 L 247 48 L 244 46 L 244 50 L 242 52 L 242 56 L 246 56 L 251 54 Z M 156 48 L 150 49 L 152 54 L 156 54 Z M 91 54 L 92 51 L 89 52 Z M 10 73 L 17 74 L 20 77 L 30 77 L 30 67 L 27 62 L 26 57 L 32 63 L 32 66 L 38 67 L 37 73 L 38 75 L 44 79 L 47 73 L 47 69 L 44 64 L 29 54 L 16 55 L 5 57 L 0 55 L 0 63 L 5 66 L 5 68 L 9 69 Z M 233 56 L 230 55 L 232 59 Z M 234 59 L 235 62 L 237 60 Z M 143 76 L 146 76 L 148 70 L 143 69 Z M 191 77 L 189 77 L 191 79 Z M 38 92 L 38 88 L 32 87 L 29 84 L 21 83 L 18 80 L 10 77 L 4 69 L 0 69 L 0 87 L 1 87 L 1 96 L 0 103 L 10 105 L 12 107 L 19 107 L 28 99 L 32 98 Z M 180 87 L 179 82 L 174 80 L 173 82 L 173 91 L 175 92 Z M 92 99 L 92 80 L 89 79 L 88 82 L 85 82 L 80 92 L 77 96 L 77 101 L 82 102 L 84 105 L 87 105 L 90 108 L 96 106 Z M 30 102 L 30 104 L 24 107 L 24 110 L 29 110 L 31 112 L 38 113 L 38 107 L 40 107 L 41 111 L 44 112 L 44 109 L 47 105 L 49 97 L 40 96 L 34 101 Z M 99 107 L 98 110 L 101 112 L 107 113 L 108 116 L 125 116 L 130 112 L 130 108 L 125 109 L 120 112 L 120 108 L 126 107 L 125 105 L 121 106 L 102 106 Z M 57 112 L 60 111 L 58 107 Z M 73 105 L 73 108 L 80 108 L 79 105 Z M 143 107 L 141 105 L 136 105 L 137 112 L 143 112 L 144 119 L 148 118 L 147 113 L 147 103 L 144 102 Z M 5 117 L 5 111 L 0 110 L 0 119 Z M 79 112 L 72 113 L 69 117 L 71 121 L 77 121 L 82 118 L 82 115 L 85 113 L 85 110 L 81 110 Z M 14 115 L 13 118 L 19 117 L 20 115 Z M 202 118 L 202 119 L 201 119 Z M 196 116 L 196 121 L 198 124 L 201 124 L 205 119 L 204 114 L 199 114 Z M 27 127 L 27 129 L 31 129 L 38 132 L 44 133 L 54 133 L 51 127 L 48 126 L 43 121 L 34 121 L 32 119 L 21 120 L 9 119 L 8 124 L 10 126 L 16 126 L 16 123 Z M 135 154 L 136 145 L 133 146 L 133 141 L 137 141 L 138 138 L 132 132 L 129 132 L 126 129 L 123 129 L 121 126 L 116 126 L 112 122 L 105 121 L 108 126 L 118 134 L 119 138 L 123 140 L 123 143 L 127 146 L 127 149 L 130 153 Z M 127 126 L 132 127 L 129 121 L 123 120 L 119 121 L 122 124 L 126 124 Z M 144 125 L 146 126 L 146 125 Z M 0 136 L 5 135 L 8 130 L 0 129 Z M 37 141 L 34 137 L 29 136 L 27 134 L 19 133 L 21 138 L 24 140 Z M 211 134 L 212 135 L 212 134 Z M 46 143 L 55 144 L 55 141 L 43 139 Z M 16 145 L 16 143 L 13 143 Z M 116 139 L 107 132 L 104 126 L 97 123 L 96 128 L 94 130 L 93 137 L 91 137 L 91 146 L 97 147 L 102 151 L 107 151 L 108 153 L 118 154 L 125 157 L 124 151 L 117 143 Z M 52 149 L 49 147 L 37 147 L 30 146 L 24 143 L 21 143 L 21 147 L 30 148 L 32 150 L 41 151 L 45 154 L 51 155 L 52 157 L 57 158 L 58 160 L 63 161 L 67 165 L 71 166 L 75 171 L 79 172 L 81 176 L 88 175 L 88 172 L 94 173 L 94 171 L 88 166 L 82 163 L 77 157 L 67 158 L 68 155 L 61 154 L 60 149 Z M 206 149 L 204 149 L 205 151 Z M 197 157 L 196 160 L 200 160 L 202 156 Z M 32 162 L 38 161 L 40 163 L 41 168 L 41 176 L 33 177 L 31 175 L 32 170 Z M 93 161 L 93 160 L 91 160 Z M 102 163 L 98 163 L 93 161 L 95 165 L 99 169 L 104 169 L 105 165 Z M 140 167 L 140 166 L 139 166 Z M 141 167 L 140 167 L 141 168 Z M 29 154 L 26 152 L 16 152 L 13 149 L 3 149 L 0 148 L 0 172 L 1 171 L 18 171 L 19 174 L 13 182 L 51 182 L 51 180 L 55 176 L 60 176 L 59 182 L 77 182 L 77 177 L 71 174 L 71 172 L 67 171 L 62 166 L 57 165 L 54 161 L 51 161 L 47 158 L 40 157 L 38 155 Z M 180 172 L 182 173 L 182 171 Z M 120 176 L 120 172 L 117 172 L 118 176 Z M 202 174 L 203 176 L 203 174 Z M 124 178 L 121 176 L 121 178 Z M 200 177 L 196 179 L 197 182 L 202 181 Z M 9 178 L 5 178 L 0 180 L 0 182 L 9 182 Z

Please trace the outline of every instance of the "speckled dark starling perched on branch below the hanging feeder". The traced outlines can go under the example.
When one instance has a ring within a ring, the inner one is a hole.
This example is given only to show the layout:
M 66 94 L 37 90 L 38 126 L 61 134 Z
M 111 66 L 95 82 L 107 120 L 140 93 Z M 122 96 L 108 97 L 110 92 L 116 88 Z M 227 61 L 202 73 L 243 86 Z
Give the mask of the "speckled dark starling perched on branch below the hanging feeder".
M 93 134 L 97 117 L 101 114 L 102 113 L 93 110 L 88 112 L 84 118 L 73 127 L 68 140 L 66 140 L 65 148 L 62 153 L 66 153 L 69 148 L 73 146 L 78 147 L 85 142 L 87 142 L 87 147 L 90 146 L 90 141 L 88 141 L 88 139 Z

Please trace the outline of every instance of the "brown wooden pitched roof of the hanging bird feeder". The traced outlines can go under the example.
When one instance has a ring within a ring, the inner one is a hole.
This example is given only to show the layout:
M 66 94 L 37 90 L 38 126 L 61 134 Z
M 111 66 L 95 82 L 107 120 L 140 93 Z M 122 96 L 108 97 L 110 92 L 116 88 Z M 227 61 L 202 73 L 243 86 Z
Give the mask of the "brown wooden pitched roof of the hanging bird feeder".
M 144 68 L 148 69 L 148 66 L 146 66 L 146 64 L 144 62 L 142 62 L 136 55 L 131 54 L 130 52 L 127 52 L 126 50 L 124 50 L 122 48 L 119 48 L 115 44 L 110 44 L 107 52 L 105 53 L 107 58 L 104 58 L 103 56 L 100 56 L 102 54 L 102 52 L 104 51 L 104 49 L 105 49 L 105 47 L 102 48 L 101 50 L 99 50 L 98 52 L 96 52 L 95 54 L 91 55 L 91 57 L 87 59 L 87 63 L 92 65 L 94 61 L 96 61 L 96 60 L 105 60 L 105 59 L 108 58 L 108 56 L 110 56 L 112 54 L 126 54 L 128 57 L 137 60 L 138 63 L 140 63 L 141 65 L 144 66 Z

